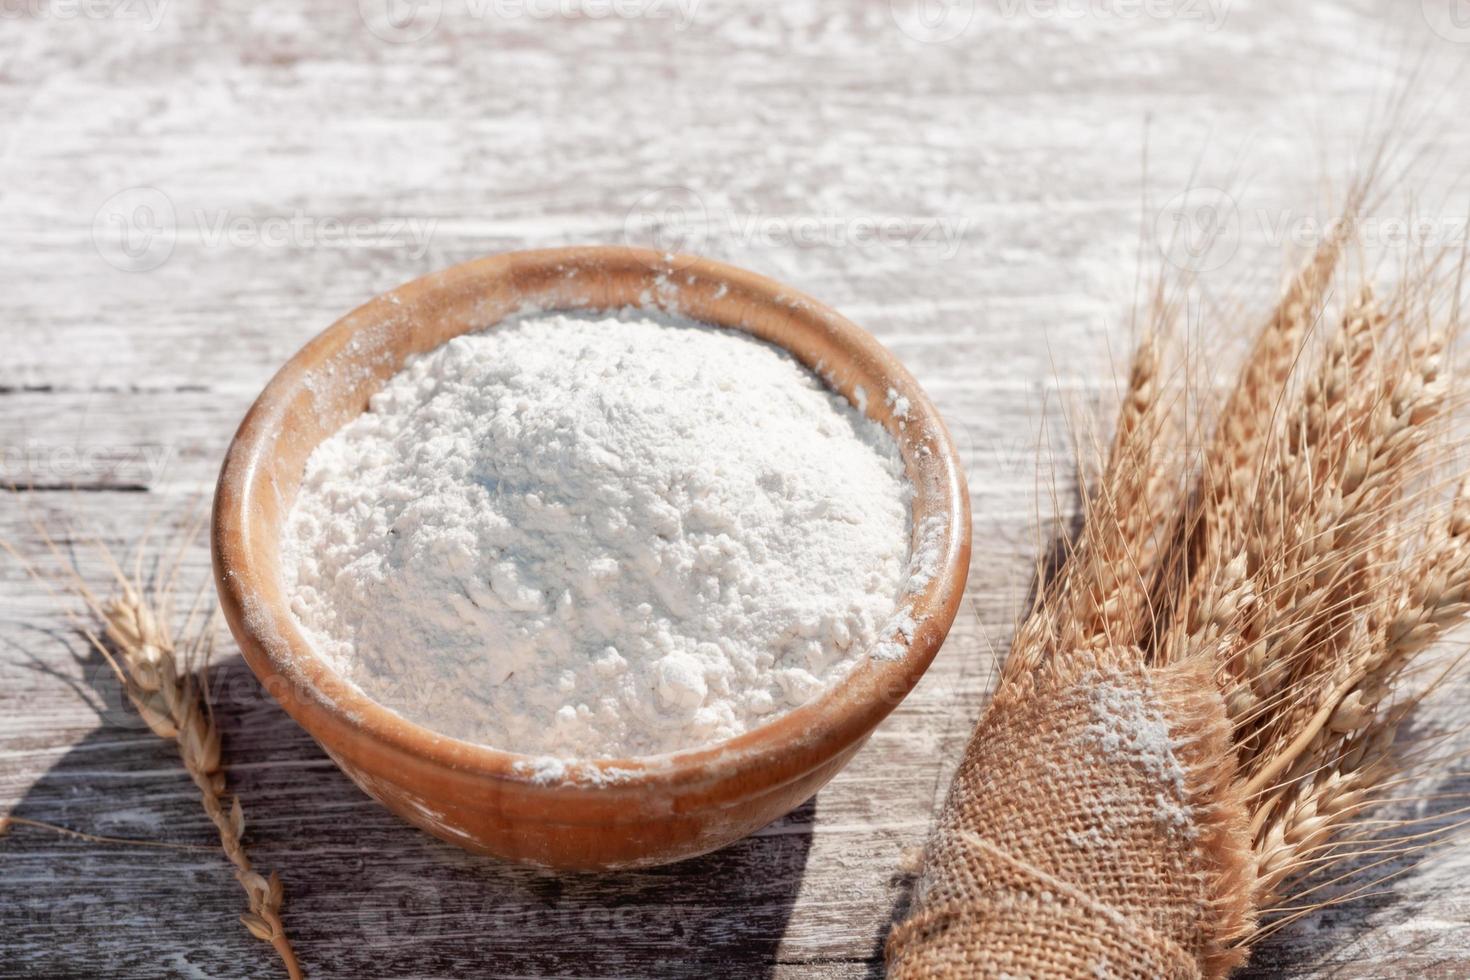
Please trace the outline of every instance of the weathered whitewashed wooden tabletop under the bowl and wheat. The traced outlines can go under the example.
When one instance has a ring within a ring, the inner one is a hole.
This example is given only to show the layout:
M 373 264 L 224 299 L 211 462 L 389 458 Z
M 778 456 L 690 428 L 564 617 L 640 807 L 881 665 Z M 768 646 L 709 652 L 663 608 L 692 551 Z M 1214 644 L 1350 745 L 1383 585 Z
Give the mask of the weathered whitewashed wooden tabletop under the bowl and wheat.
M 392 1 L 397 26 L 382 0 L 0 6 L 0 535 L 34 554 L 40 519 L 101 576 L 88 542 L 197 511 L 253 395 L 347 309 L 485 253 L 634 241 L 788 281 L 886 342 L 964 448 L 976 560 L 931 674 L 814 801 L 614 877 L 400 824 L 226 645 L 232 786 L 318 977 L 879 976 L 1026 588 L 1036 420 L 1107 391 L 1141 231 L 1216 216 L 1223 248 L 1170 256 L 1205 297 L 1269 285 L 1251 247 L 1310 237 L 1319 178 L 1416 71 L 1405 187 L 1464 216 L 1463 0 Z M 1191 182 L 1229 195 L 1170 200 Z M 187 551 L 193 582 L 206 560 Z M 0 974 L 275 976 L 191 786 L 66 608 L 0 563 L 0 807 L 203 846 L 13 830 Z M 1466 870 L 1439 857 L 1285 932 L 1257 976 L 1470 976 Z

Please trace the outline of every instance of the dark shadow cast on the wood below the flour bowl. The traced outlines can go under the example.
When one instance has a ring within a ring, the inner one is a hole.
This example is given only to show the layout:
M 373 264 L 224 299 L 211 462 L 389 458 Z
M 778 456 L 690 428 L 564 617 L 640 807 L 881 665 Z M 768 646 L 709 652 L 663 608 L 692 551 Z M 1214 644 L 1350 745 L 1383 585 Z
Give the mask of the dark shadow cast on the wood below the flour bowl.
M 0 973 L 273 976 L 269 948 L 237 918 L 244 895 L 172 743 L 122 704 L 100 660 L 85 669 L 90 691 L 78 692 L 104 723 L 50 765 L 13 815 L 196 846 L 100 845 L 13 829 L 0 837 Z M 775 973 L 814 801 L 676 865 L 545 874 L 466 854 L 401 823 L 343 776 L 238 657 L 218 666 L 209 685 L 250 855 L 285 882 L 284 917 L 309 976 Z M 128 805 L 118 808 L 119 799 Z M 112 934 L 104 956 L 98 930 Z

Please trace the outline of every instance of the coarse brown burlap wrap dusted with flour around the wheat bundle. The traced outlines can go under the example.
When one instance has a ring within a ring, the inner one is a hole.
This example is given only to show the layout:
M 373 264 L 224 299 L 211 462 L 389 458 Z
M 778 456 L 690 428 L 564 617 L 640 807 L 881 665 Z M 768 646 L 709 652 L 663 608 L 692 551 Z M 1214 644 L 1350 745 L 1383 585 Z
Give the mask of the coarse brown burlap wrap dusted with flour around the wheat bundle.
M 1205 666 L 1063 658 L 997 693 L 889 977 L 1220 977 L 1250 918 L 1245 811 Z

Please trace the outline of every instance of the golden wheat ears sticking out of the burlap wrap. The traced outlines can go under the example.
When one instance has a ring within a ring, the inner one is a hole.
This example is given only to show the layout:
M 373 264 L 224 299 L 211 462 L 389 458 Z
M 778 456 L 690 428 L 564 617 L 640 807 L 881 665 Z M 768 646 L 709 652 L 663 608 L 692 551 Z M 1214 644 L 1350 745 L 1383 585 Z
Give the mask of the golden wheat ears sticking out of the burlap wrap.
M 1355 284 L 1339 310 L 1345 254 L 1329 238 L 1286 282 L 1223 408 L 1194 425 L 1213 433 L 1194 491 L 1161 504 L 1142 488 L 1185 473 L 1142 445 L 1172 404 L 1152 388 L 1160 336 L 1145 338 L 1083 529 L 1016 641 L 1032 651 L 1045 636 L 1053 658 L 1123 642 L 1155 666 L 1216 664 L 1255 868 L 1238 898 L 1267 920 L 1242 948 L 1327 904 L 1332 868 L 1446 833 L 1385 842 L 1364 815 L 1410 783 L 1401 730 L 1444 679 L 1424 680 L 1424 655 L 1470 616 L 1470 478 L 1441 507 L 1436 476 L 1461 407 L 1445 353 L 1463 279 L 1430 262 L 1386 295 Z M 1160 505 L 1173 533 L 1158 532 Z M 1152 577 L 1123 574 L 1141 567 Z M 1141 580 L 1151 624 L 1135 611 Z M 1003 685 L 1042 663 L 1023 652 Z

